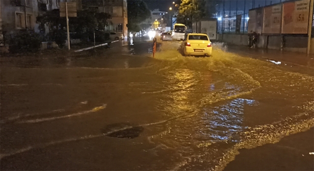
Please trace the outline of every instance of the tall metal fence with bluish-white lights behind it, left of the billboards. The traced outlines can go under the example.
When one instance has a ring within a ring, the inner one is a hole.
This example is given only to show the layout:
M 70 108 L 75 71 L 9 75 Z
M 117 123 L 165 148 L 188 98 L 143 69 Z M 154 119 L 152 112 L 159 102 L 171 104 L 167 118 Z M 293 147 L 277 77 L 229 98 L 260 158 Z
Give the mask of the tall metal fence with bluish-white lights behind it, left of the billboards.
M 287 0 L 219 0 L 214 18 L 218 20 L 218 33 L 247 34 L 249 10 Z M 236 19 L 240 29 L 236 30 Z M 239 22 L 240 21 L 240 22 Z

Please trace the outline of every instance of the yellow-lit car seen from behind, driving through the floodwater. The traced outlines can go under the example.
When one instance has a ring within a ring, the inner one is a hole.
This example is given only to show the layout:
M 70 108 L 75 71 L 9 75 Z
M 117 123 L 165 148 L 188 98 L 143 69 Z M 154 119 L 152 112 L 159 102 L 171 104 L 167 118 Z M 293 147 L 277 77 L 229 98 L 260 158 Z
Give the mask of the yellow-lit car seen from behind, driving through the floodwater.
M 181 50 L 184 55 L 211 56 L 212 47 L 207 34 L 189 33 L 183 39 Z

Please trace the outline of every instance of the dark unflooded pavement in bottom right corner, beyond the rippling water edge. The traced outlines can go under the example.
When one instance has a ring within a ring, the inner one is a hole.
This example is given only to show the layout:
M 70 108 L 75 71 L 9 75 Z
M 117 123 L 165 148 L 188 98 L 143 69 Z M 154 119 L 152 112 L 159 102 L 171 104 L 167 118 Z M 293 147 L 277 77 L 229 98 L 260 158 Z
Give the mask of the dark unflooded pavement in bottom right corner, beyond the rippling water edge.
M 314 171 L 314 128 L 239 152 L 224 171 Z

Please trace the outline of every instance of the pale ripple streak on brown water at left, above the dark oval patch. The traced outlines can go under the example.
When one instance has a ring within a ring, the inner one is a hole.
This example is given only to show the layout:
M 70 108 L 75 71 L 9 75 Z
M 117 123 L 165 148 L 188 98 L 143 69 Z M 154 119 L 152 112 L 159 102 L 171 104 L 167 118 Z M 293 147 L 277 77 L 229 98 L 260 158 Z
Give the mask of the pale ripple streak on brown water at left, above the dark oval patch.
M 81 111 L 81 112 L 77 112 L 77 113 L 72 113 L 72 114 L 69 114 L 69 115 L 50 117 L 50 118 L 41 118 L 41 119 L 31 119 L 31 120 L 26 120 L 26 121 L 20 121 L 18 123 L 38 123 L 38 122 L 52 121 L 52 120 L 62 119 L 62 118 L 69 118 L 69 117 L 73 117 L 73 116 L 79 116 L 79 115 L 83 115 L 83 114 L 96 112 L 96 111 L 99 111 L 99 110 L 102 110 L 102 109 L 106 108 L 106 106 L 107 105 L 104 104 L 104 105 L 102 105 L 100 107 L 94 107 L 91 110 L 85 110 L 85 111 Z

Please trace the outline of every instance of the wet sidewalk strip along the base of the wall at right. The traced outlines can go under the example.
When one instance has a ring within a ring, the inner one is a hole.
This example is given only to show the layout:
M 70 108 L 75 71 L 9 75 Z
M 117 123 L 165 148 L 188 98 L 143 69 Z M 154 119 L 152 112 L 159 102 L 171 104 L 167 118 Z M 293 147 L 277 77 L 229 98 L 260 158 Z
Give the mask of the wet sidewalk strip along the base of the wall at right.
M 287 64 L 301 65 L 314 68 L 314 55 L 307 56 L 304 53 L 287 52 L 273 49 L 253 49 L 248 46 L 227 45 L 228 51 L 242 56 L 249 56 L 256 59 L 272 60 Z

